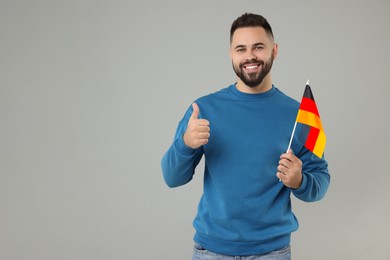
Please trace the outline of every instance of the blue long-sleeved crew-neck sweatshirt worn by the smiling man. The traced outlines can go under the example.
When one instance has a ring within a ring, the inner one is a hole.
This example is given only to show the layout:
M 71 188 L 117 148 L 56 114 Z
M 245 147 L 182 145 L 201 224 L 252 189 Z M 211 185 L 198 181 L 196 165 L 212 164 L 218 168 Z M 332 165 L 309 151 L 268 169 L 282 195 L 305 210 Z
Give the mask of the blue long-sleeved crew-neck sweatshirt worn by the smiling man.
M 330 181 L 327 162 L 308 151 L 297 137 L 292 150 L 303 163 L 300 188 L 287 188 L 276 177 L 299 103 L 274 86 L 265 93 L 246 94 L 235 85 L 195 102 L 199 117 L 210 122 L 209 142 L 198 149 L 184 144 L 190 106 L 161 163 L 165 182 L 177 187 L 192 179 L 205 156 L 194 240 L 226 255 L 263 254 L 288 246 L 291 232 L 298 229 L 291 193 L 303 201 L 317 201 Z

